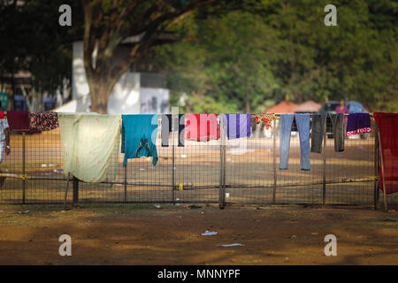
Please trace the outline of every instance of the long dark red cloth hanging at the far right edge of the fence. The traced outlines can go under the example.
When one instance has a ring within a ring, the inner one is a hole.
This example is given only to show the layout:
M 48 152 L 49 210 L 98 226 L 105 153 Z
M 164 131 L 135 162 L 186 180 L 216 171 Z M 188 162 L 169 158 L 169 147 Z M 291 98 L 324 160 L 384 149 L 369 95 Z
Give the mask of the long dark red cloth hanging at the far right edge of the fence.
M 373 117 L 380 131 L 386 194 L 394 194 L 398 192 L 398 114 L 375 112 Z M 383 190 L 380 166 L 379 172 L 379 188 Z

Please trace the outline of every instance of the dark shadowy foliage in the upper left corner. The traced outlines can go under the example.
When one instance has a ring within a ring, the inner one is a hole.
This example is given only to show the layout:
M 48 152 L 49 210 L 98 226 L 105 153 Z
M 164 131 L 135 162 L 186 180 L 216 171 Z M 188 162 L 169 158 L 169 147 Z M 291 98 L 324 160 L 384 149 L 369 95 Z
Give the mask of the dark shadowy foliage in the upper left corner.
M 81 33 L 79 1 L 72 5 L 73 27 L 60 27 L 63 0 L 26 1 L 0 9 L 0 73 L 19 70 L 32 74 L 32 86 L 50 95 L 72 77 L 72 42 Z M 4 35 L 4 36 L 3 36 Z

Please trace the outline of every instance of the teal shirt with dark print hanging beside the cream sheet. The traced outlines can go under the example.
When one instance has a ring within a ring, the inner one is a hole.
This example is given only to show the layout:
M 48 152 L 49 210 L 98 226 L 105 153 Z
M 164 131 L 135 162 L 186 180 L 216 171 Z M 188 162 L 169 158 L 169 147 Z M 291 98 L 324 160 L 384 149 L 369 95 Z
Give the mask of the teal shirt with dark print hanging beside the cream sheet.
M 157 164 L 157 115 L 138 114 L 122 115 L 121 152 L 127 158 L 152 157 L 152 164 Z

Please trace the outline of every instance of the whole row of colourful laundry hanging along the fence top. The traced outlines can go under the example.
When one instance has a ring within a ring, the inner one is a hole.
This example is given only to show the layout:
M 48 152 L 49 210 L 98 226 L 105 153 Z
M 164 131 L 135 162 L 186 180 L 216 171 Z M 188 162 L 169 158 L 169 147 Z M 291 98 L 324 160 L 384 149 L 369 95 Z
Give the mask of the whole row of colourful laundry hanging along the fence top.
M 155 165 L 157 163 L 157 149 L 155 142 L 152 140 L 153 136 L 157 135 L 157 119 L 162 119 L 162 147 L 168 146 L 170 133 L 175 129 L 175 126 L 178 126 L 179 130 L 179 146 L 184 146 L 184 140 L 194 140 L 198 142 L 218 140 L 221 137 L 220 128 L 224 129 L 223 131 L 228 140 L 250 137 L 252 133 L 250 119 L 256 119 L 257 124 L 260 121 L 264 121 L 267 128 L 272 126 L 271 122 L 273 119 L 280 119 L 279 149 L 281 161 L 279 164 L 279 170 L 287 170 L 290 133 L 292 131 L 294 120 L 297 126 L 297 131 L 299 132 L 300 164 L 303 171 L 310 170 L 310 152 L 321 153 L 322 148 L 325 147 L 323 139 L 326 133 L 326 113 L 226 113 L 221 115 L 216 113 L 185 113 L 182 114 L 185 116 L 184 118 L 182 118 L 181 114 L 180 116 L 178 116 L 178 114 L 174 114 L 176 118 L 179 117 L 179 123 L 177 125 L 175 125 L 174 119 L 173 122 L 170 123 L 170 119 L 174 116 L 173 114 L 99 115 L 97 113 L 57 113 L 53 111 L 4 111 L 3 113 L 9 120 L 11 131 L 27 131 L 26 129 L 50 131 L 59 126 L 61 128 L 60 135 L 63 145 L 64 161 L 69 160 L 68 162 L 72 164 L 64 164 L 65 172 L 71 172 L 73 176 L 80 180 L 92 182 L 103 181 L 104 178 L 107 178 L 106 172 L 108 172 L 110 157 L 117 156 L 116 151 L 118 149 L 113 145 L 119 144 L 119 126 L 123 126 L 122 129 L 124 131 L 122 131 L 122 133 L 126 134 L 126 138 L 122 134 L 122 142 L 126 142 L 126 151 L 122 149 L 122 152 L 125 153 L 124 165 L 126 166 L 127 158 L 137 158 L 142 156 L 152 157 L 153 164 Z M 375 116 L 376 119 L 379 119 L 381 115 L 387 115 L 387 118 L 384 120 L 390 119 L 391 125 L 394 124 L 393 122 L 396 119 L 395 116 L 393 117 L 394 119 L 388 116 L 394 114 L 378 112 L 375 112 L 374 115 L 372 112 L 349 114 L 337 113 L 329 115 L 331 115 L 333 123 L 334 150 L 336 152 L 344 151 L 344 139 L 346 135 L 370 133 L 370 118 L 373 118 L 373 116 Z M 81 118 L 84 119 L 78 119 L 78 116 L 81 116 Z M 218 121 L 214 119 L 214 116 L 218 117 Z M 348 117 L 348 119 L 343 119 L 343 117 Z M 181 122 L 181 118 L 185 121 Z M 128 123 L 130 120 L 132 123 Z M 380 119 L 378 125 L 383 121 Z M 174 126 L 171 126 L 170 124 L 174 124 Z M 274 126 L 276 125 L 277 124 L 274 124 Z M 185 134 L 186 126 L 188 126 L 189 131 Z M 142 129 L 142 132 L 138 133 L 138 127 Z M 78 130 L 76 130 L 76 128 L 78 128 Z M 394 128 L 394 125 L 389 126 L 389 128 Z M 384 131 L 384 133 L 386 132 L 388 131 Z M 381 141 L 386 143 L 383 139 L 383 133 L 381 133 L 381 135 Z M 397 139 L 392 137 L 389 138 L 387 142 L 390 140 L 390 143 L 396 143 Z M 391 147 L 392 146 L 387 145 L 384 146 L 383 149 L 390 149 Z M 116 151 L 112 154 L 114 150 Z M 68 158 L 66 158 L 66 156 Z M 69 167 L 72 169 L 69 170 Z M 388 170 L 395 170 L 388 166 L 386 167 L 387 172 L 389 172 Z M 80 172 L 87 173 L 84 176 L 83 174 L 80 176 Z M 113 175 L 113 173 L 109 174 L 108 177 L 112 179 L 111 176 Z M 89 178 L 85 178 L 87 176 Z M 389 175 L 387 175 L 387 179 L 385 181 L 387 185 L 390 185 L 388 183 L 391 182 L 390 179 Z M 398 188 L 387 188 L 387 192 L 395 190 L 398 191 Z

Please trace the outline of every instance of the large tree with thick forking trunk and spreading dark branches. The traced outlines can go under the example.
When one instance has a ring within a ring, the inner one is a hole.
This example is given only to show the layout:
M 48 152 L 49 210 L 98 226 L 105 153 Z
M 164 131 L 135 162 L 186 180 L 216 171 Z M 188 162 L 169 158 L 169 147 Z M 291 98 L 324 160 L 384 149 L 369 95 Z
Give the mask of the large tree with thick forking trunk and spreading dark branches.
M 217 0 L 81 0 L 84 11 L 84 65 L 92 111 L 106 113 L 112 88 L 137 60 L 153 50 L 173 25 Z M 117 48 L 136 36 L 126 57 Z M 97 47 L 96 47 L 97 46 Z M 92 54 L 97 48 L 96 61 Z

